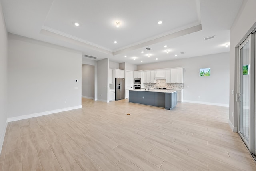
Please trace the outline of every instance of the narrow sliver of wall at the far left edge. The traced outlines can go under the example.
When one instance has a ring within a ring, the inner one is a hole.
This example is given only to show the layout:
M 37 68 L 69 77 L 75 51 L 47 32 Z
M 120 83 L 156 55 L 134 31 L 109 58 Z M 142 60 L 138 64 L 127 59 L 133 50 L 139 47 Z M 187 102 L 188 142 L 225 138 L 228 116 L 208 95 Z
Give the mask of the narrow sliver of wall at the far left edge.
M 7 32 L 0 2 L 0 153 L 7 125 L 7 82 Z

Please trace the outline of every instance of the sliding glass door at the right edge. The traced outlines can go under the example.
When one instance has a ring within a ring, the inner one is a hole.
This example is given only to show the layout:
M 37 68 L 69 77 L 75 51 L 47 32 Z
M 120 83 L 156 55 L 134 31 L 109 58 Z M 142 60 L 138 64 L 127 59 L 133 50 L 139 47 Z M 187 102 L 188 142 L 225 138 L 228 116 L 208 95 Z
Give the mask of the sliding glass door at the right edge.
M 238 47 L 238 133 L 251 153 L 256 153 L 255 145 L 255 82 L 254 49 L 255 35 L 250 34 Z

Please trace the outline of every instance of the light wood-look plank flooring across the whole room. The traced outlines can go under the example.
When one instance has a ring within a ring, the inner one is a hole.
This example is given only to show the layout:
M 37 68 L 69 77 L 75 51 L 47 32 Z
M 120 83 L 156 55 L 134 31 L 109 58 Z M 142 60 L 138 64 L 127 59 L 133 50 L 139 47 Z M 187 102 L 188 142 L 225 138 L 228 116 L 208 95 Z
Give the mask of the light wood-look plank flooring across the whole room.
M 127 114 L 130 115 L 127 115 Z M 171 111 L 82 99 L 82 109 L 8 123 L 0 171 L 256 171 L 228 107 Z

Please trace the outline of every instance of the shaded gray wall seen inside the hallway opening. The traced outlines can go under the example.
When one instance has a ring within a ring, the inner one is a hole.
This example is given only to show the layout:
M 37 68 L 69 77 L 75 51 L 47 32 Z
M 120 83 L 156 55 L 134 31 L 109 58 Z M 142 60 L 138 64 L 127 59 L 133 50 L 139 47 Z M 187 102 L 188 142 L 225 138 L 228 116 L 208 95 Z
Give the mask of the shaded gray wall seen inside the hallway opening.
M 94 99 L 94 68 L 95 66 L 82 64 L 82 96 Z

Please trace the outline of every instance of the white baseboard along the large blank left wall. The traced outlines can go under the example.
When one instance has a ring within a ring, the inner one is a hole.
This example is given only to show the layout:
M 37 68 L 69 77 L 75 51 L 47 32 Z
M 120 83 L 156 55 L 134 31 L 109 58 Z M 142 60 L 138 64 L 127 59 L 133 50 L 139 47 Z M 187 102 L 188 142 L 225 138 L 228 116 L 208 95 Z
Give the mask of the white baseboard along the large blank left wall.
M 63 109 L 56 109 L 56 110 L 51 110 L 51 111 L 44 111 L 44 112 L 34 113 L 34 114 L 30 114 L 30 115 L 10 117 L 10 118 L 7 118 L 7 122 L 19 121 L 22 119 L 28 119 L 28 118 L 38 117 L 38 116 L 43 116 L 43 115 L 49 115 L 49 114 L 53 114 L 53 113 L 59 113 L 62 111 L 69 111 L 69 110 L 74 110 L 74 109 L 79 109 L 79 108 L 82 108 L 82 105 L 74 106 L 74 107 L 67 107 L 67 108 L 63 108 Z

